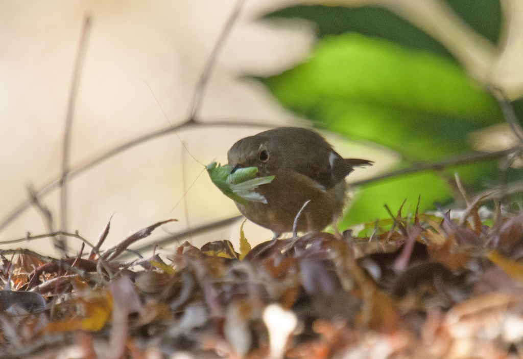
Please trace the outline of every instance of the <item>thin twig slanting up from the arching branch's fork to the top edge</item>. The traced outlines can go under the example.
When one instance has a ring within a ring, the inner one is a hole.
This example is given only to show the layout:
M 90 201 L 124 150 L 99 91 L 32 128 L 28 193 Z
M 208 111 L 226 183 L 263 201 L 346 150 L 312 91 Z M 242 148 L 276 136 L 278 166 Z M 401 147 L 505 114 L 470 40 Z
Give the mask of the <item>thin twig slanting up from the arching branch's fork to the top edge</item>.
M 240 15 L 240 11 L 242 10 L 244 0 L 237 0 L 236 4 L 234 5 L 233 12 L 229 19 L 227 20 L 227 23 L 222 29 L 222 32 L 220 33 L 220 37 L 214 44 L 214 48 L 211 51 L 211 54 L 209 56 L 209 59 L 207 59 L 207 63 L 205 64 L 205 67 L 203 68 L 203 71 L 200 76 L 200 80 L 196 84 L 196 89 L 194 96 L 192 97 L 192 106 L 191 106 L 191 112 L 189 116 L 189 121 L 196 121 L 196 117 L 198 115 L 198 111 L 200 110 L 201 102 L 203 100 L 203 93 L 205 91 L 205 88 L 207 87 L 207 82 L 209 81 L 209 76 L 211 75 L 212 68 L 214 67 L 214 64 L 216 63 L 216 60 L 218 59 L 218 54 L 223 48 L 223 44 L 225 43 L 225 40 L 229 36 L 229 33 L 231 32 L 231 29 L 236 22 L 236 19 L 238 18 L 238 15 Z

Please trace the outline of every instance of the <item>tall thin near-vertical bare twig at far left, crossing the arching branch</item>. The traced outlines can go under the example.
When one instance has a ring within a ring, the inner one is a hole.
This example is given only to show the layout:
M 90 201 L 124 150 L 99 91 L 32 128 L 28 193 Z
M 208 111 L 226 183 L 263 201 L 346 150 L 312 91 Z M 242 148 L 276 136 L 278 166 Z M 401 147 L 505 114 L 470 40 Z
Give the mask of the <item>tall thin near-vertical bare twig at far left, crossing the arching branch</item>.
M 67 232 L 67 175 L 69 175 L 69 156 L 71 152 L 71 128 L 73 125 L 74 108 L 76 104 L 76 96 L 78 94 L 78 85 L 80 82 L 80 74 L 82 72 L 82 65 L 85 59 L 85 52 L 87 48 L 87 38 L 91 27 L 91 18 L 86 17 L 80 42 L 78 46 L 78 53 L 74 64 L 73 80 L 71 82 L 71 92 L 69 93 L 69 104 L 67 105 L 67 115 L 65 116 L 65 130 L 63 140 L 63 158 L 62 158 L 62 177 L 60 179 L 60 229 L 62 232 Z M 59 249 L 62 254 L 67 254 L 67 241 L 64 236 L 60 235 L 58 239 Z

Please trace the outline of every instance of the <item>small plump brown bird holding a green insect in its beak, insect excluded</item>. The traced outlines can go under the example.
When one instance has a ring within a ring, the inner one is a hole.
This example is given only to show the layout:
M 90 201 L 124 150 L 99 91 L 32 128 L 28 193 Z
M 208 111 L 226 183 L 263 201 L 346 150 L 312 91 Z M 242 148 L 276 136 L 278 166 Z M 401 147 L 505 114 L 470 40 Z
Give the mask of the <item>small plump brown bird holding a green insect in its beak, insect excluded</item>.
M 275 238 L 292 231 L 294 218 L 307 200 L 298 231 L 321 231 L 333 223 L 345 203 L 345 176 L 356 166 L 372 164 L 342 158 L 320 134 L 299 127 L 279 127 L 243 138 L 227 155 L 231 173 L 258 167 L 258 177 L 275 175 L 271 183 L 256 189 L 266 204 L 235 202 L 245 217 L 270 229 Z

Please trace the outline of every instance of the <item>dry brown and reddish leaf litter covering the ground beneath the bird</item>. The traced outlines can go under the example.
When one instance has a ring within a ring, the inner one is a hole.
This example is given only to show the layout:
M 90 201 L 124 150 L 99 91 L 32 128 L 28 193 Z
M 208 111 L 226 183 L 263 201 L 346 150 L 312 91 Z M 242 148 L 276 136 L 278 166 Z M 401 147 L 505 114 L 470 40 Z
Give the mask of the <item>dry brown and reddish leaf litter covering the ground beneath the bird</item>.
M 523 215 L 418 214 L 370 238 L 228 240 L 123 262 L 0 251 L 2 358 L 523 356 Z M 378 223 L 380 225 L 378 226 Z M 369 224 L 371 226 L 372 224 Z M 180 353 L 185 353 L 180 356 Z

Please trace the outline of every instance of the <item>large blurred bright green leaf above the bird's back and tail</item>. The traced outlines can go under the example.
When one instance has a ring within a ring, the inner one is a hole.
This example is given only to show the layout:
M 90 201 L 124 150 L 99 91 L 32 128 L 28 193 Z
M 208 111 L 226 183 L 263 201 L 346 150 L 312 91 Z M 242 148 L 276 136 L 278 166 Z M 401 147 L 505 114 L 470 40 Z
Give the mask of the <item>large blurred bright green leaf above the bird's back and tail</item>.
M 468 134 L 502 120 L 494 98 L 458 65 L 349 33 L 263 81 L 283 106 L 326 128 L 427 160 L 468 149 Z

